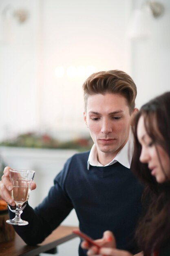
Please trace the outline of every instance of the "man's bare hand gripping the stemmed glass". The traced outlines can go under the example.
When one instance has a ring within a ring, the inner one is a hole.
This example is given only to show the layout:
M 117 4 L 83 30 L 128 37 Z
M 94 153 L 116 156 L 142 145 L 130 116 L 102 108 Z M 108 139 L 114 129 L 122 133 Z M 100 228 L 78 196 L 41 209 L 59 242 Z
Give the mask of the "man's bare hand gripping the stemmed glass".
M 15 206 L 15 202 L 11 198 L 11 190 L 13 189 L 13 186 L 9 180 L 9 169 L 11 168 L 8 166 L 4 168 L 4 175 L 2 175 L 2 180 L 0 181 L 0 197 L 11 206 Z M 31 190 L 33 189 L 36 189 L 35 182 L 32 182 L 31 184 Z

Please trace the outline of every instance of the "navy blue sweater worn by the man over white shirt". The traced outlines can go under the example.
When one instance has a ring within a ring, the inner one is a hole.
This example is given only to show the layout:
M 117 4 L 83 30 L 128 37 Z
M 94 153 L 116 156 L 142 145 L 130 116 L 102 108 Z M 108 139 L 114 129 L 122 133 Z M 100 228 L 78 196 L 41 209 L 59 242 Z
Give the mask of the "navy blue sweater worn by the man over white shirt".
M 88 236 L 101 238 L 105 230 L 111 230 L 117 248 L 136 253 L 134 231 L 143 187 L 119 162 L 88 170 L 88 156 L 89 151 L 68 159 L 43 202 L 35 210 L 29 205 L 24 209 L 22 219 L 29 225 L 14 228 L 27 244 L 41 243 L 74 208 L 80 230 Z M 79 248 L 79 255 L 86 252 Z

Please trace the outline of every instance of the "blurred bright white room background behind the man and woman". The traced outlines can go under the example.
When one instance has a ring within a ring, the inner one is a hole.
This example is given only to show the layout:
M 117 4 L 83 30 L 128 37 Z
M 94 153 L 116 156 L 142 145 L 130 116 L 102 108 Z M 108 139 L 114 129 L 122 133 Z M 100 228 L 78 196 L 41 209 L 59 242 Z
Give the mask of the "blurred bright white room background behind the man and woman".
M 169 0 L 0 0 L 1 169 L 35 169 L 35 207 L 66 159 L 91 147 L 85 79 L 127 72 L 140 108 L 170 90 L 169 68 Z M 78 225 L 71 214 L 64 223 Z

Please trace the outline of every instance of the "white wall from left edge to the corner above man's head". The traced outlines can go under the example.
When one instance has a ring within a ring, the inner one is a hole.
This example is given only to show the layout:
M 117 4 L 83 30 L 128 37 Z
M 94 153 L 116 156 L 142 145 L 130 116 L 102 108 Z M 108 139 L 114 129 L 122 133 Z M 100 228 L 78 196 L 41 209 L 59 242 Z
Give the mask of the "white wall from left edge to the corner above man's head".
M 13 40 L 0 42 L 0 139 L 17 132 L 49 131 L 58 137 L 87 134 L 81 77 L 55 76 L 55 67 L 130 72 L 125 36 L 127 0 L 1 0 L 25 8 L 29 19 L 13 19 Z

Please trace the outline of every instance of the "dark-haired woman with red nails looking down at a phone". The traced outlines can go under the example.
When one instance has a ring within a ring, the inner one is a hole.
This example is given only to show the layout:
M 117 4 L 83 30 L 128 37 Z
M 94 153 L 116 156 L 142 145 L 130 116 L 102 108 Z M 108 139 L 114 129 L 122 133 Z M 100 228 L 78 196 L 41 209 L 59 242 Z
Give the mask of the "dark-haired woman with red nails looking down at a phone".
M 142 252 L 136 255 L 170 255 L 170 92 L 152 99 L 137 113 L 133 134 L 135 150 L 132 170 L 146 185 L 144 202 L 147 211 L 139 222 L 136 238 Z M 140 160 L 140 162 L 139 162 Z M 146 200 L 147 198 L 147 200 Z M 150 198 L 148 200 L 148 198 Z M 96 243 L 88 245 L 88 255 L 132 256 L 129 252 L 114 249 L 115 239 L 110 231 Z

